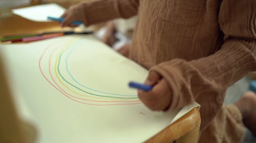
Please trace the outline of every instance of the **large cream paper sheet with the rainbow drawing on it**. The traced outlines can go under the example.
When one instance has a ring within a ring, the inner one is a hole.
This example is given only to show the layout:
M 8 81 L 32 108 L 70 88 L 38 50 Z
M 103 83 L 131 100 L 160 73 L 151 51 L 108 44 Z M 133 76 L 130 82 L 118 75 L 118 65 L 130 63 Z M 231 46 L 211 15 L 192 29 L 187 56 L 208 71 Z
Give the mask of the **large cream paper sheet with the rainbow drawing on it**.
M 148 71 L 92 36 L 0 45 L 20 116 L 37 142 L 142 142 L 196 106 L 154 112 L 127 87 Z M 94 95 L 92 95 L 94 94 Z

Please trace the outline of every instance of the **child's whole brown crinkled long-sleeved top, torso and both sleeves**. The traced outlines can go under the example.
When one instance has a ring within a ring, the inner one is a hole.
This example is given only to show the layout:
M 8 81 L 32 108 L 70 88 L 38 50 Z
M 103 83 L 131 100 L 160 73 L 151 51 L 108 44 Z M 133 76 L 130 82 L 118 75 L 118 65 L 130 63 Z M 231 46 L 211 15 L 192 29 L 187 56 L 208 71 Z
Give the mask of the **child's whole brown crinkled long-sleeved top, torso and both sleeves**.
M 169 110 L 201 104 L 203 130 L 226 89 L 256 70 L 255 0 L 103 0 L 75 7 L 86 25 L 138 14 L 130 58 L 167 79 Z

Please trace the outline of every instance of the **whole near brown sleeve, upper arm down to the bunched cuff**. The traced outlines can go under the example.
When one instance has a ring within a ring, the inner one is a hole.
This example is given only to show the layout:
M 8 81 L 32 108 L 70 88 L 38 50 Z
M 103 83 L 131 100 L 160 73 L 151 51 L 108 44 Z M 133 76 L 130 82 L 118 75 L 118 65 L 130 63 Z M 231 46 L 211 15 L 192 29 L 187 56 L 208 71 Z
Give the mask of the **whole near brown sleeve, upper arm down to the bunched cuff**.
M 151 69 L 160 73 L 172 88 L 169 110 L 195 101 L 203 92 L 222 92 L 256 70 L 255 8 L 255 0 L 223 0 L 219 24 L 225 42 L 219 51 L 193 61 L 175 59 Z

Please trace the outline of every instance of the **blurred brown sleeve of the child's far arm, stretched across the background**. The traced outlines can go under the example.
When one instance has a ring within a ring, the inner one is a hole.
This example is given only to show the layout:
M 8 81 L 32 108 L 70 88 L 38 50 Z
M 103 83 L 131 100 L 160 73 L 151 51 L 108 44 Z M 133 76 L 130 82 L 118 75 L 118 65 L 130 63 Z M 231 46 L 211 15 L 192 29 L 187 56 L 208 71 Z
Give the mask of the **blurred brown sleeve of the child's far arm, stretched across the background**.
M 130 18 L 138 13 L 139 0 L 97 0 L 82 2 L 76 6 L 75 16 L 85 25 L 96 24 L 114 18 Z

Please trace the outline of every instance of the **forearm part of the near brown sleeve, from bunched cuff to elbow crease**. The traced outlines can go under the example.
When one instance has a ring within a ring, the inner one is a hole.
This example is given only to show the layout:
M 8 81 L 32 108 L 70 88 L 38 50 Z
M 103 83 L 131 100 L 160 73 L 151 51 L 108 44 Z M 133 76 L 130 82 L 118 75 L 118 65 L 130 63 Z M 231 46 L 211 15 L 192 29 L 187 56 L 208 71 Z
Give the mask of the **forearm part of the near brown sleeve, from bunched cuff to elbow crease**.
M 172 89 L 169 110 L 183 107 L 203 92 L 225 91 L 250 71 L 256 70 L 255 42 L 229 40 L 218 52 L 194 61 L 175 59 L 151 68 Z

